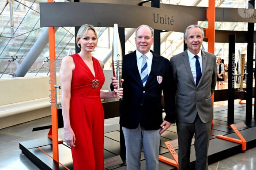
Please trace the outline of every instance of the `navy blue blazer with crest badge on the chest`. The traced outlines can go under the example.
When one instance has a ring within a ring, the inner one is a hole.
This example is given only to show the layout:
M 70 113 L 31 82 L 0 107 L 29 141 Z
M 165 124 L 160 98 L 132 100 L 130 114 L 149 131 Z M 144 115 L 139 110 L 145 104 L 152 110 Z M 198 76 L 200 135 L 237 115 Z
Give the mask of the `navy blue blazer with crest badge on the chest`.
M 151 51 L 153 53 L 153 51 Z M 129 129 L 139 126 L 145 130 L 160 129 L 162 119 L 162 92 L 164 94 L 165 120 L 175 123 L 171 112 L 169 60 L 153 53 L 151 72 L 143 87 L 137 67 L 136 51 L 123 57 L 123 99 L 120 100 L 120 125 Z

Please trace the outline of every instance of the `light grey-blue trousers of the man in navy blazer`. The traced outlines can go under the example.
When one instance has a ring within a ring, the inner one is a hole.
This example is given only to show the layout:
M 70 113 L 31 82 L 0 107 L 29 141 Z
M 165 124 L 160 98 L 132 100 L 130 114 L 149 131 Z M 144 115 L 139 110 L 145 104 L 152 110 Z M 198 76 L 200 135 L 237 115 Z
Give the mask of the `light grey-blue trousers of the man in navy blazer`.
M 126 148 L 127 170 L 140 170 L 141 149 L 146 159 L 146 170 L 158 170 L 161 135 L 159 130 L 144 130 L 122 127 Z

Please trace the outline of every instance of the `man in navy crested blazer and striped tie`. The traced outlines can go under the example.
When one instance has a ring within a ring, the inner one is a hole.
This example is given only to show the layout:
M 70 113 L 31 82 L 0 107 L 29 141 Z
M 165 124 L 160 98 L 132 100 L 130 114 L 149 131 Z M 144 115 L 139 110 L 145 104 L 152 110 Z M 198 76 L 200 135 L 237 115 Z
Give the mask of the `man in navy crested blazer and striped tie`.
M 150 50 L 153 29 L 140 25 L 136 29 L 136 51 L 123 57 L 123 99 L 120 100 L 120 125 L 124 133 L 128 170 L 140 170 L 143 147 L 147 170 L 158 170 L 161 134 L 175 122 L 170 100 L 169 60 Z M 140 70 L 142 55 L 147 57 L 148 78 L 143 86 Z M 118 81 L 112 81 L 116 87 Z M 166 116 L 162 116 L 162 93 Z

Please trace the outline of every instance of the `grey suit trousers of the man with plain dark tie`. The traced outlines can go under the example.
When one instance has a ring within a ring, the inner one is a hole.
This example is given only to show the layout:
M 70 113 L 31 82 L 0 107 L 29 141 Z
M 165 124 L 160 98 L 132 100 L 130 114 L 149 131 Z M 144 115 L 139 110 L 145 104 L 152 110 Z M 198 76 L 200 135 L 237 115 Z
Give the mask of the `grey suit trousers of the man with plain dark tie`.
M 178 134 L 179 170 L 190 169 L 190 148 L 195 134 L 196 170 L 207 170 L 207 153 L 211 134 L 211 121 L 203 123 L 199 116 L 193 123 L 176 122 Z

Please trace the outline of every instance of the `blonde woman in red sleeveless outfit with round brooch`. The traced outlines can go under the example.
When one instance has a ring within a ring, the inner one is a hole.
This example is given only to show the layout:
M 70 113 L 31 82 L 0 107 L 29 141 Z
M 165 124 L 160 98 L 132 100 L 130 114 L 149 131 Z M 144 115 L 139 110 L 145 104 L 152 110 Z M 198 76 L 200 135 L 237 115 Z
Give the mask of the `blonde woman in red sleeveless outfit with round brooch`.
M 63 58 L 60 67 L 65 142 L 72 150 L 74 170 L 103 170 L 104 110 L 101 99 L 122 98 L 122 88 L 100 89 L 105 81 L 99 61 L 91 56 L 98 43 L 92 25 L 82 25 L 76 43 L 81 51 Z M 97 163 L 96 163 L 97 162 Z

